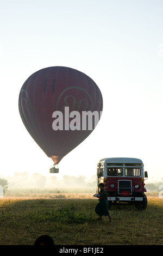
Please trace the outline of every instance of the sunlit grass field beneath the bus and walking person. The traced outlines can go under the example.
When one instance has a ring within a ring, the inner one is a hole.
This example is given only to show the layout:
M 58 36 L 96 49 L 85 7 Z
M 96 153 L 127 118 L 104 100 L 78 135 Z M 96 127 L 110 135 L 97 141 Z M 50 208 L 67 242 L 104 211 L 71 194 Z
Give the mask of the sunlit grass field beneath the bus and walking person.
M 55 245 L 162 245 L 163 199 L 147 193 L 148 206 L 112 206 L 97 221 L 93 193 L 29 193 L 0 199 L 0 245 L 33 245 L 51 235 Z

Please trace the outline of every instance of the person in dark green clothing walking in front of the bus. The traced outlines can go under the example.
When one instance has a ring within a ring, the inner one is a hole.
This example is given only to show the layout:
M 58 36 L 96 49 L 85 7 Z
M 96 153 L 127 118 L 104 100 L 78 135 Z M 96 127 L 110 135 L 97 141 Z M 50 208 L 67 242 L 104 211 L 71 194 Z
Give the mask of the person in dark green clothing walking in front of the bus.
M 95 195 L 93 197 L 97 197 L 99 198 L 99 203 L 96 205 L 95 208 L 95 212 L 96 214 L 99 215 L 99 218 L 97 218 L 97 220 L 102 220 L 102 216 L 108 216 L 109 217 L 109 222 L 111 222 L 111 217 L 108 211 L 108 194 L 106 193 L 105 189 L 104 189 L 104 184 L 100 183 L 98 185 L 98 187 L 100 188 L 100 192 L 98 195 Z

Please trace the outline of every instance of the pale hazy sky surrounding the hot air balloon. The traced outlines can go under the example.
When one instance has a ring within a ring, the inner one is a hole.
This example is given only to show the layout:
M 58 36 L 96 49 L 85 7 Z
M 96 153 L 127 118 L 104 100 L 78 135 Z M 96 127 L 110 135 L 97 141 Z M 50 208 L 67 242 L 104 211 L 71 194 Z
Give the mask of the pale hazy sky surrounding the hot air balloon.
M 0 0 L 1 172 L 96 174 L 104 157 L 140 158 L 148 181 L 163 177 L 163 1 Z M 18 112 L 24 81 L 48 66 L 68 66 L 101 89 L 96 129 L 53 164 Z

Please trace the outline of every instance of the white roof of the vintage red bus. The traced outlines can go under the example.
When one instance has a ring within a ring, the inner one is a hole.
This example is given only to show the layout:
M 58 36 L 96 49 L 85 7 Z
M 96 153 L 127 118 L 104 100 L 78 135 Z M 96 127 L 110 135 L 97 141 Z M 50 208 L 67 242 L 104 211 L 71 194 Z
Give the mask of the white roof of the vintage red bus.
M 104 158 L 99 161 L 101 162 L 108 162 L 108 163 L 142 163 L 142 160 L 136 158 L 129 158 L 129 157 L 111 157 L 111 158 Z

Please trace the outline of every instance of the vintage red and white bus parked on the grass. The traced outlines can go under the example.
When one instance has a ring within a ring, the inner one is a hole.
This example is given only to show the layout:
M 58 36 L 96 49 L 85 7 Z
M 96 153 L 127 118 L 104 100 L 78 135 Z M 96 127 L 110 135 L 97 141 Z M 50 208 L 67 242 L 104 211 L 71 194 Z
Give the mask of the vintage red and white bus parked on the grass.
M 147 197 L 143 162 L 140 159 L 127 157 L 105 158 L 97 164 L 97 194 L 98 184 L 103 182 L 108 193 L 108 208 L 112 205 L 135 205 L 138 210 L 145 210 Z

